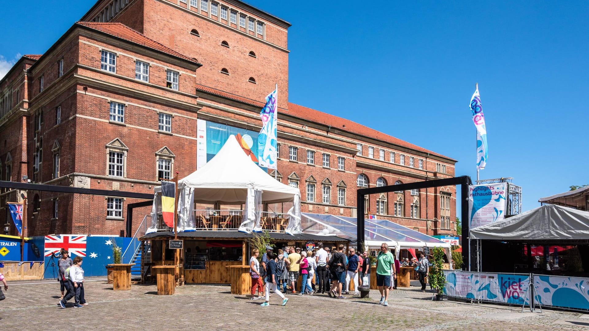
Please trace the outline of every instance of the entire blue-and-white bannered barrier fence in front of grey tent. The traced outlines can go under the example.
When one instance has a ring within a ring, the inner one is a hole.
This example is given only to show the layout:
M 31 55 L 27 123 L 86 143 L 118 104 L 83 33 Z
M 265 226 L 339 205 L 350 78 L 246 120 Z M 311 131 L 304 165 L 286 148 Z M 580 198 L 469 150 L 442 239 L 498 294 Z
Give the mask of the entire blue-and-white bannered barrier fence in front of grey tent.
M 589 279 L 521 273 L 482 273 L 444 270 L 444 294 L 458 299 L 529 306 L 534 304 L 566 310 L 589 310 Z

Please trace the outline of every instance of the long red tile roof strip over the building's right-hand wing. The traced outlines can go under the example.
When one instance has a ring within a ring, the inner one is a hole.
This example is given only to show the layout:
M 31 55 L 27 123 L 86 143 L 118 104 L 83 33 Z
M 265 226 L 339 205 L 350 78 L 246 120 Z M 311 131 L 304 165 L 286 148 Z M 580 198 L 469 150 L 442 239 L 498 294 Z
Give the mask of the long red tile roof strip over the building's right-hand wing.
M 244 102 L 246 104 L 254 105 L 256 107 L 264 107 L 264 102 L 259 102 L 255 100 L 251 100 L 248 98 L 240 97 L 239 95 L 234 95 L 228 92 L 216 90 L 214 88 L 206 87 L 204 85 L 196 85 L 197 90 L 201 90 L 204 92 L 208 92 L 210 94 L 219 95 L 220 97 L 229 98 L 232 100 L 237 100 L 240 102 Z M 444 157 L 452 161 L 456 161 L 453 158 L 447 157 L 442 154 L 435 153 L 430 150 L 426 150 L 425 148 L 419 147 L 418 145 L 413 145 L 406 141 L 403 141 L 399 138 L 392 137 L 391 135 L 382 133 L 380 131 L 376 131 L 372 128 L 366 127 L 362 124 L 358 124 L 356 122 L 346 120 L 345 118 L 337 117 L 335 115 L 327 114 L 326 112 L 321 112 L 318 110 L 314 110 L 312 108 L 303 107 L 302 105 L 293 104 L 289 102 L 289 109 L 284 110 L 279 108 L 278 110 L 281 114 L 286 114 L 292 117 L 300 118 L 302 120 L 310 121 L 313 123 L 323 124 L 323 125 L 331 125 L 333 128 L 337 128 L 337 130 L 347 131 L 349 133 L 354 133 L 358 135 L 362 135 L 364 137 L 373 138 L 375 140 L 384 141 L 386 143 L 391 143 L 395 145 L 399 145 L 402 147 L 410 148 L 412 150 L 416 150 L 422 153 L 429 153 L 432 155 L 436 155 L 438 157 Z

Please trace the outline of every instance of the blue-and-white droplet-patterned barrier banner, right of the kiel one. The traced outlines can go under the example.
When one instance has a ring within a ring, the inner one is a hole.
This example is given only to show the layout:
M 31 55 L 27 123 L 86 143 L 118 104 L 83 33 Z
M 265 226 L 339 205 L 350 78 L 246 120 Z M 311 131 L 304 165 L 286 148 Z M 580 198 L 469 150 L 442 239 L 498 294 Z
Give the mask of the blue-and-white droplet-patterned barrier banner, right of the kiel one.
M 534 274 L 536 300 L 542 306 L 589 309 L 589 279 Z

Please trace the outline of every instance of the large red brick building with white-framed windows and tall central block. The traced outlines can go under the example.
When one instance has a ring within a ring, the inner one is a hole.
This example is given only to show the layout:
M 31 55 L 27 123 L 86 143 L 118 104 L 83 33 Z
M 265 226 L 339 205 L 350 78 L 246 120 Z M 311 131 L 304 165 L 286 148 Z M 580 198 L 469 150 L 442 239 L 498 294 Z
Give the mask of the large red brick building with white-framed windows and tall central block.
M 303 212 L 355 216 L 358 187 L 454 176 L 452 158 L 288 102 L 289 27 L 237 0 L 98 1 L 0 81 L 0 178 L 152 193 L 158 178 L 196 170 L 197 119 L 259 131 L 274 84 L 276 176 L 300 188 Z M 121 234 L 137 202 L 24 193 L 27 236 Z M 0 223 L 11 223 L 5 203 L 20 195 L 2 190 Z M 451 234 L 455 197 L 455 187 L 429 188 L 371 196 L 367 206 L 423 233 Z

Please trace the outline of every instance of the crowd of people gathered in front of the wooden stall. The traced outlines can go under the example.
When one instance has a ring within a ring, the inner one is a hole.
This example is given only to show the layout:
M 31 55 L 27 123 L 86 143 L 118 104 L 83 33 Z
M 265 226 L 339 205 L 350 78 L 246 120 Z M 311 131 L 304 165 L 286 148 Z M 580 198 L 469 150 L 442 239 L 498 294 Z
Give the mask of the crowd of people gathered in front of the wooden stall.
M 371 259 L 376 262 L 379 303 L 388 306 L 389 290 L 396 289 L 396 273 L 401 266 L 414 266 L 418 269 L 424 292 L 425 277 L 429 270 L 428 259 L 423 254 L 419 260 L 405 259 L 401 262 L 395 259 L 386 243 L 380 246 L 376 257 L 370 257 L 368 251 L 360 252 L 353 248 L 346 254 L 342 244 L 332 252 L 329 247 L 323 247 L 323 243 L 317 243 L 317 249 L 309 251 L 302 251 L 299 247 L 283 247 L 274 252 L 273 247 L 266 246 L 261 263 L 259 256 L 260 251 L 254 249 L 250 258 L 250 299 L 265 299 L 260 306 L 269 306 L 270 292 L 276 293 L 282 299 L 283 306 L 289 300 L 284 296 L 286 293 L 299 296 L 327 293 L 336 299 L 346 299 L 343 294 L 350 294 L 352 281 L 355 285 L 353 295 L 357 296 L 360 294 L 359 286 L 369 286 Z

